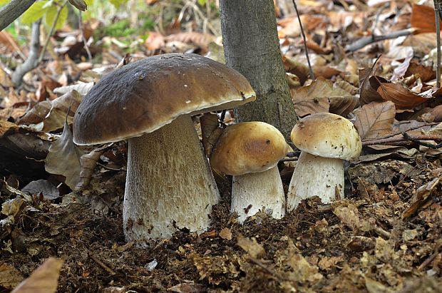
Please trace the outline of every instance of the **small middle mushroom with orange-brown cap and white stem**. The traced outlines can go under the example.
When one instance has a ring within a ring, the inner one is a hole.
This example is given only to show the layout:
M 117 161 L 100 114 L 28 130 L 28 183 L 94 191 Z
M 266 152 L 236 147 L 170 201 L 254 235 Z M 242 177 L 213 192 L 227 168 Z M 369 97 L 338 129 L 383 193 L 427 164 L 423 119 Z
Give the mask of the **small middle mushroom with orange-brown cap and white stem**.
M 264 209 L 272 217 L 285 215 L 285 197 L 277 163 L 287 153 L 284 136 L 264 122 L 227 127 L 210 155 L 217 173 L 233 175 L 231 212 L 239 222 Z

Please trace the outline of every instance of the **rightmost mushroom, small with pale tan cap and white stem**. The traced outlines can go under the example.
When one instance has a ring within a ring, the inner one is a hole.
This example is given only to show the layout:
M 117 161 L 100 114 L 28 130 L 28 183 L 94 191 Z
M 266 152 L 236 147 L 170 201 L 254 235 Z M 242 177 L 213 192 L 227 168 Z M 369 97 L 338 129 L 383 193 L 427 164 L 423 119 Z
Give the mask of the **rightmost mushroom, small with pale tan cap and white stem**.
M 344 197 L 344 163 L 357 158 L 362 144 L 353 123 L 340 115 L 316 113 L 292 129 L 292 142 L 302 150 L 290 180 L 287 211 L 314 195 L 323 203 Z

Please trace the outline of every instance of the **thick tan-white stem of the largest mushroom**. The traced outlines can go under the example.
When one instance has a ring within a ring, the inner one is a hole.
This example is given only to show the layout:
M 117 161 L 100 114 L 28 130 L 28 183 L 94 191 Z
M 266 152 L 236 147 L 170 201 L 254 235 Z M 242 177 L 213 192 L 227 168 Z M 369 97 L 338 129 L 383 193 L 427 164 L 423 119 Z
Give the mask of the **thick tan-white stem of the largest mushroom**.
M 202 232 L 219 199 L 190 115 L 130 138 L 123 204 L 128 242 L 146 247 L 180 228 Z

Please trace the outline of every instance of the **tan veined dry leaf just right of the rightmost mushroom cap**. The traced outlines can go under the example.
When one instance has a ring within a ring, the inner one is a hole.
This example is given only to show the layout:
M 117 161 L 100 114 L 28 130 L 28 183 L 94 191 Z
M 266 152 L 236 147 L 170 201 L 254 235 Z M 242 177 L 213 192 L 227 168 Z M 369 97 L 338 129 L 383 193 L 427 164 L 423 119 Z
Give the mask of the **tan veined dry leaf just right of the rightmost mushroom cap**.
M 354 125 L 362 140 L 379 138 L 390 133 L 395 115 L 393 102 L 372 102 L 358 110 Z

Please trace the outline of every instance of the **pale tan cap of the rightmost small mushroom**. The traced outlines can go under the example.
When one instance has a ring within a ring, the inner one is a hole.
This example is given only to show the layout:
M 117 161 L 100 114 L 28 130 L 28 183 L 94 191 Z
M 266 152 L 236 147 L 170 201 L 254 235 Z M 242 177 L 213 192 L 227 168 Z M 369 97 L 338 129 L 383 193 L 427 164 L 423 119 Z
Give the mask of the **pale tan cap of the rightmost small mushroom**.
M 324 158 L 351 160 L 362 144 L 353 123 L 332 113 L 315 113 L 302 118 L 292 129 L 292 142 L 300 150 Z

